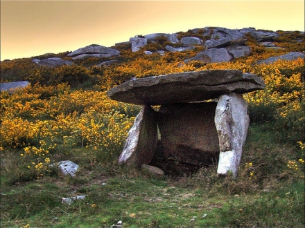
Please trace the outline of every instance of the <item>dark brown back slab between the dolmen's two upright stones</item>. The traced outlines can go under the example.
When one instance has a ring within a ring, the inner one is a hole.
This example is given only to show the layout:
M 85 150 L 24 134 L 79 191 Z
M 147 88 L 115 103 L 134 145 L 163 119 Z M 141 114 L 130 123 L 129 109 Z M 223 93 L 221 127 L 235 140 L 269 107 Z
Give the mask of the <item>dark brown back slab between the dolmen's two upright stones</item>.
M 157 122 L 166 158 L 195 165 L 218 160 L 216 105 L 216 102 L 201 102 L 161 106 Z

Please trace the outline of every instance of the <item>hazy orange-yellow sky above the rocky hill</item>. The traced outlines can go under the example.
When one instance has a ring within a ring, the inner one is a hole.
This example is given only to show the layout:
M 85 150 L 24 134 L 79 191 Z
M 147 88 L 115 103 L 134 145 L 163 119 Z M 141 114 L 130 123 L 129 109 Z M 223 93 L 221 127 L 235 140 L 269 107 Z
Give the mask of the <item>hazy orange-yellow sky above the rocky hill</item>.
M 1 0 L 1 61 L 205 26 L 304 31 L 304 1 Z

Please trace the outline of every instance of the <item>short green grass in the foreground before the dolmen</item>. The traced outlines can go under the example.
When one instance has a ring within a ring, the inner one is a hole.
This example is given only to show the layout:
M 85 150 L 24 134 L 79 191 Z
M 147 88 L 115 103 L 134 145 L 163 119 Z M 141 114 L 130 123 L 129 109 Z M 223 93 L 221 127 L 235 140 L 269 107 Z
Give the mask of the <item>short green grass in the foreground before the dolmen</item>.
M 304 227 L 304 167 L 296 173 L 286 166 L 295 153 L 251 126 L 237 180 L 218 178 L 216 167 L 157 178 L 115 162 L 91 165 L 78 150 L 69 158 L 82 167 L 76 178 L 17 182 L 8 181 L 17 158 L 3 154 L 1 227 L 111 227 L 120 220 L 123 227 Z M 62 204 L 79 195 L 86 198 Z

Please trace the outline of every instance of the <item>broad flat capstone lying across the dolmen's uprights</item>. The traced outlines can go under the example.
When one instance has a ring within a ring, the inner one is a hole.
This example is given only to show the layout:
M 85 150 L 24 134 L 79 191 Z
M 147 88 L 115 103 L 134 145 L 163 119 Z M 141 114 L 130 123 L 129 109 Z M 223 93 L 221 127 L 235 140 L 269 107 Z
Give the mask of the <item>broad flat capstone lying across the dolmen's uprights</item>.
M 107 95 L 120 102 L 159 105 L 200 102 L 263 88 L 263 79 L 240 70 L 202 70 L 135 79 L 110 89 Z

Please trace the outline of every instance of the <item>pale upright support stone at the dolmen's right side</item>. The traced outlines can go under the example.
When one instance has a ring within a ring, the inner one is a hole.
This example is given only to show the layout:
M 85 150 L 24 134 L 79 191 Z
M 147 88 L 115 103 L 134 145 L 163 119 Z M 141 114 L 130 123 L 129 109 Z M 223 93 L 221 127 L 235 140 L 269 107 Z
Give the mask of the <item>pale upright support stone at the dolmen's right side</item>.
M 219 97 L 215 115 L 220 147 L 218 175 L 232 172 L 236 178 L 249 122 L 247 103 L 242 94 L 229 93 Z

